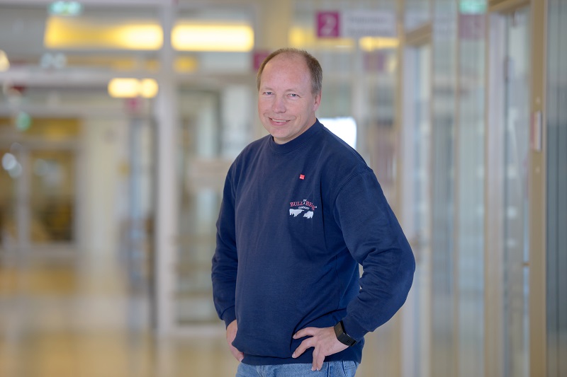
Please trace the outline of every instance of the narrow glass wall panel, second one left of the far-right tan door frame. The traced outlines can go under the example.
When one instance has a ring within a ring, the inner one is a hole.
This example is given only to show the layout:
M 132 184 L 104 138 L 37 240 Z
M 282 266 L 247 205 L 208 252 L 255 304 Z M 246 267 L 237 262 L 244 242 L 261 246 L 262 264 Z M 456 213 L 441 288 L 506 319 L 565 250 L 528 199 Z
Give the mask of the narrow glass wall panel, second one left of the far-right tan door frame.
M 456 376 L 454 134 L 456 3 L 434 1 L 432 23 L 432 376 Z

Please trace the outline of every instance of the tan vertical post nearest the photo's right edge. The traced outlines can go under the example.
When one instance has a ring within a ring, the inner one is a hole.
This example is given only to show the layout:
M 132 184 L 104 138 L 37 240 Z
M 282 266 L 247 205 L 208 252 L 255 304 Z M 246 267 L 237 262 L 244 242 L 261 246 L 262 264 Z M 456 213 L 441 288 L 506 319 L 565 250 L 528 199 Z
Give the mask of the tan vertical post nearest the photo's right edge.
M 529 376 L 553 376 L 553 369 L 550 368 L 549 361 L 554 359 L 552 349 L 549 349 L 549 326 L 548 326 L 548 310 L 549 310 L 549 229 L 553 224 L 548 224 L 549 214 L 548 208 L 551 198 L 548 198 L 550 184 L 548 177 L 547 153 L 549 153 L 549 141 L 544 135 L 548 132 L 549 112 L 553 106 L 555 98 L 546 98 L 546 77 L 552 77 L 546 70 L 546 62 L 552 59 L 555 52 L 554 48 L 548 48 L 546 45 L 556 38 L 561 38 L 557 33 L 548 30 L 554 29 L 556 25 L 560 25 L 561 21 L 551 11 L 554 7 L 551 4 L 557 4 L 558 1 L 530 1 L 532 12 L 532 54 L 531 54 L 531 112 L 535 116 L 537 112 L 543 114 L 541 121 L 541 137 L 542 151 L 532 149 L 529 152 L 529 182 L 528 182 L 528 202 L 529 202 Z M 556 15 L 561 13 L 555 13 Z M 554 23 L 551 19 L 554 17 L 558 23 Z M 557 16 L 558 17 L 558 16 Z M 548 29 L 549 18 L 549 29 Z M 563 18 L 565 18 L 563 16 Z M 557 26 L 558 27 L 558 26 Z M 563 34 L 564 35 L 564 34 Z M 556 39 L 558 40 L 558 39 Z M 558 49 L 561 50 L 561 49 Z M 557 56 L 557 54 L 555 54 Z M 550 72 L 551 73 L 551 72 Z M 555 93 L 554 93 L 555 97 Z M 558 102 L 561 103 L 561 102 Z M 560 105 L 561 106 L 561 105 Z M 556 181 L 557 182 L 557 181 Z M 557 203 L 555 203 L 557 204 Z M 558 207 L 556 207 L 558 208 Z M 555 360 L 557 361 L 557 360 Z M 557 365 L 557 364 L 555 364 Z M 561 373 L 556 376 L 560 376 Z

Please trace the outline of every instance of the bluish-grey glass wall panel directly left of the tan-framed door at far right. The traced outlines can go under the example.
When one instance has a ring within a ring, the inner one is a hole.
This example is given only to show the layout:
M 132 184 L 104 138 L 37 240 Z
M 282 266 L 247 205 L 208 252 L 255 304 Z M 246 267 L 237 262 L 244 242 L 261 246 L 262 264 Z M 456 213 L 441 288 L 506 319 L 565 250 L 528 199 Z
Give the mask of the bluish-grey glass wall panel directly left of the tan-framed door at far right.
M 484 329 L 485 13 L 459 12 L 456 253 L 459 376 L 482 376 Z

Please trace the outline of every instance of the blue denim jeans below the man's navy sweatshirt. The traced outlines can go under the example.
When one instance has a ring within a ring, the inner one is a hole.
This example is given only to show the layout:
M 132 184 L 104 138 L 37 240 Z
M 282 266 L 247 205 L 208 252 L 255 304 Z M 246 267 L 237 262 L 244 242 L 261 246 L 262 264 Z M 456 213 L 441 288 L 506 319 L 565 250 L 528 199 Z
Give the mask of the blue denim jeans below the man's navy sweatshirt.
M 240 363 L 236 377 L 354 377 L 356 361 L 327 361 L 320 371 L 311 364 L 248 365 Z

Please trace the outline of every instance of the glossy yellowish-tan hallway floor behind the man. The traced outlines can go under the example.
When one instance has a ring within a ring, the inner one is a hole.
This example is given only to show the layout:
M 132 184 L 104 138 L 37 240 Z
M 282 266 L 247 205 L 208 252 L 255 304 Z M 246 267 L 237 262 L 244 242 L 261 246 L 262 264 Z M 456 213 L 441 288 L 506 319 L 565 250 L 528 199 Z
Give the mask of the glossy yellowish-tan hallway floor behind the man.
M 112 263 L 0 262 L 0 377 L 235 375 L 220 321 L 157 339 L 147 299 L 124 275 Z M 378 352 L 367 344 L 365 354 Z M 373 360 L 357 376 L 376 376 Z

